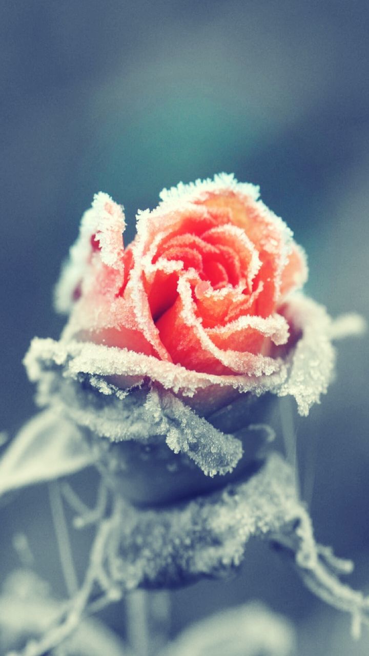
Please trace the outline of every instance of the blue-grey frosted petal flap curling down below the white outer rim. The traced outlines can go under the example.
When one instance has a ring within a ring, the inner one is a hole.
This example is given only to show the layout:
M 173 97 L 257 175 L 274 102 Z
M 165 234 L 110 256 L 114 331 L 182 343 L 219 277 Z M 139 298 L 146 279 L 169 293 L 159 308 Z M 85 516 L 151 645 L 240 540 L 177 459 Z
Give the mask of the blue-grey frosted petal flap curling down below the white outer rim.
M 58 355 L 60 352 L 55 354 L 54 367 L 66 363 Z M 37 373 L 41 372 L 33 369 L 33 375 Z M 230 472 L 242 457 L 240 440 L 225 436 L 170 392 L 145 386 L 123 394 L 96 375 L 84 379 L 77 375 L 75 379 L 74 375 L 60 375 L 57 369 L 41 375 L 40 381 L 40 405 L 51 405 L 104 438 L 141 442 L 161 438 L 211 476 Z

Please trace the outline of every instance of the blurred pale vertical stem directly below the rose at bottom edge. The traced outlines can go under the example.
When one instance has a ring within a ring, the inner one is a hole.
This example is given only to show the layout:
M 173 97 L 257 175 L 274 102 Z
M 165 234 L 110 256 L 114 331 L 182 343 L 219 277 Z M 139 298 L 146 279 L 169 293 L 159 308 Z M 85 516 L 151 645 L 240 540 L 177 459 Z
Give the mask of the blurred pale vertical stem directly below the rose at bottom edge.
M 126 597 L 127 642 L 135 656 L 154 656 L 167 644 L 169 592 L 133 590 Z

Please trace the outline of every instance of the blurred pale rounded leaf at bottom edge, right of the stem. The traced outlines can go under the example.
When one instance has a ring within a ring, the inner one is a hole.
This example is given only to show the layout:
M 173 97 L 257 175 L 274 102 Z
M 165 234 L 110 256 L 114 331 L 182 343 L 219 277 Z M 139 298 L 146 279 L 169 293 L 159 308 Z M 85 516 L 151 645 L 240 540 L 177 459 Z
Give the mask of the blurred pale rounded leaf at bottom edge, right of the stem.
M 189 626 L 161 656 L 290 656 L 294 649 L 290 622 L 262 604 L 249 603 Z

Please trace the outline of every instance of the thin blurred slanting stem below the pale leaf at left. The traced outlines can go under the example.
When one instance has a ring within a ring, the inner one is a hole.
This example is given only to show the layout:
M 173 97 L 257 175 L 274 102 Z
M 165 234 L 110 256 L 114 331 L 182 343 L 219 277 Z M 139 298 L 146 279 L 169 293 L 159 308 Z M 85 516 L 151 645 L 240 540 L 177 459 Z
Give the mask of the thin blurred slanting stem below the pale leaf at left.
M 72 598 L 78 590 L 78 581 L 76 569 L 74 569 L 72 548 L 70 546 L 68 527 L 66 525 L 62 495 L 60 494 L 60 486 L 57 481 L 49 483 L 49 500 L 66 590 L 68 596 Z

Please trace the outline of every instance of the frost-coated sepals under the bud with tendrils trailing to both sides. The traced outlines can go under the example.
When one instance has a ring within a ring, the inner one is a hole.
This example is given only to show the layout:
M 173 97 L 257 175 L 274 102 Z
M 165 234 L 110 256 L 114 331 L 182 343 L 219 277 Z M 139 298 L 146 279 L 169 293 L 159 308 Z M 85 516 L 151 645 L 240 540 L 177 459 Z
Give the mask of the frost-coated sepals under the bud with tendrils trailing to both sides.
M 350 613 L 355 627 L 369 623 L 368 598 L 339 580 L 351 572 L 351 562 L 316 544 L 307 510 L 297 498 L 293 470 L 276 454 L 248 480 L 211 495 L 152 510 L 132 506 L 113 490 L 112 503 L 105 493 L 98 514 L 89 515 L 97 530 L 83 583 L 22 656 L 47 653 L 76 630 L 85 613 L 138 587 L 170 588 L 227 575 L 242 563 L 251 538 L 278 548 L 303 583 Z

